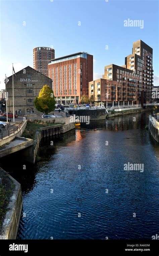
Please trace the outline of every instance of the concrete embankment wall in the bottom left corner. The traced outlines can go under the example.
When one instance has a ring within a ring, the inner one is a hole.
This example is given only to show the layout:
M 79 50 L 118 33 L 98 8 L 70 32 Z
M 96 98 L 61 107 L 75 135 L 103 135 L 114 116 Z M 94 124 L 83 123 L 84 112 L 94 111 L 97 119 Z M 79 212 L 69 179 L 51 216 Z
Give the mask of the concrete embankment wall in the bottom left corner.
M 20 183 L 17 182 L 12 176 L 0 168 L 0 172 L 4 172 L 14 183 L 13 194 L 7 206 L 5 219 L 2 226 L 2 239 L 16 239 L 19 221 L 22 210 L 22 194 Z

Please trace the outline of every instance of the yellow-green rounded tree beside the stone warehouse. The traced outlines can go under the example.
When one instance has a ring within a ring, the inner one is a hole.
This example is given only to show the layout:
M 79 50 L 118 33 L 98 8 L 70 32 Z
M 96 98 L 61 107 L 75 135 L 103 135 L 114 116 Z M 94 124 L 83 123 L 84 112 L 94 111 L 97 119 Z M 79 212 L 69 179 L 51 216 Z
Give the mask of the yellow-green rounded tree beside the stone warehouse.
M 34 100 L 34 106 L 46 115 L 55 109 L 54 93 L 48 85 L 44 85 L 40 90 L 39 96 Z

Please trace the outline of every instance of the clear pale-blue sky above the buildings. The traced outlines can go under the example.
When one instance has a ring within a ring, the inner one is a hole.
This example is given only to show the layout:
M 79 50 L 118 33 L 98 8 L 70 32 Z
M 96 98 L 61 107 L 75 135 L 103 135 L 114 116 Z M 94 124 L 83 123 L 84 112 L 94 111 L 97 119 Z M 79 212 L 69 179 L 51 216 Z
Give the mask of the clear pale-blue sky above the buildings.
M 1 89 L 5 73 L 12 74 L 12 62 L 15 72 L 33 67 L 34 47 L 53 47 L 55 58 L 78 51 L 92 54 L 97 79 L 105 65 L 124 65 L 139 39 L 153 48 L 154 85 L 159 84 L 158 1 L 1 0 L 0 5 Z M 144 20 L 144 28 L 124 27 L 127 19 Z

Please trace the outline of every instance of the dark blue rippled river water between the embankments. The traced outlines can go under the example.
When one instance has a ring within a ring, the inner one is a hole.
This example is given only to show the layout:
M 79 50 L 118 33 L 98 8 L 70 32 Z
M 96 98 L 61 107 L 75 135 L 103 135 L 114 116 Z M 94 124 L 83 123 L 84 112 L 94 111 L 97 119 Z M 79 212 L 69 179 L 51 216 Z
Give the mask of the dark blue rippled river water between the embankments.
M 1 166 L 22 188 L 26 217 L 17 238 L 151 239 L 157 234 L 159 146 L 145 130 L 148 116 L 91 121 L 45 138 L 35 165 L 21 161 L 19 153 L 10 155 L 11 167 L 4 158 Z M 124 171 L 128 162 L 143 163 L 144 172 Z

